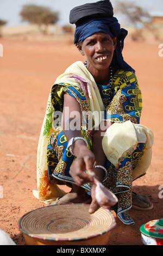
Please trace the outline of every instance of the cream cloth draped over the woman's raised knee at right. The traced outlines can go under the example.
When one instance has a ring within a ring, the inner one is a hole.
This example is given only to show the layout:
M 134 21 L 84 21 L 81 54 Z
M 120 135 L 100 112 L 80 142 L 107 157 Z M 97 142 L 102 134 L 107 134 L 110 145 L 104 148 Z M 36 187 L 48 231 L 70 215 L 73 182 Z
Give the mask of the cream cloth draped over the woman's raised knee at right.
M 139 147 L 139 143 L 145 143 L 146 150 L 152 148 L 153 132 L 146 126 L 133 124 L 130 120 L 124 123 L 114 123 L 105 132 L 102 145 L 107 159 L 118 168 L 121 161 Z M 146 157 L 142 157 L 141 163 L 138 163 L 136 170 L 139 174 L 144 174 L 151 164 L 151 150 L 146 152 Z M 138 178 L 134 172 L 133 179 Z

